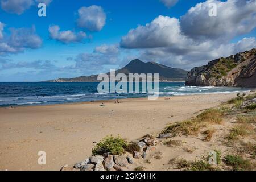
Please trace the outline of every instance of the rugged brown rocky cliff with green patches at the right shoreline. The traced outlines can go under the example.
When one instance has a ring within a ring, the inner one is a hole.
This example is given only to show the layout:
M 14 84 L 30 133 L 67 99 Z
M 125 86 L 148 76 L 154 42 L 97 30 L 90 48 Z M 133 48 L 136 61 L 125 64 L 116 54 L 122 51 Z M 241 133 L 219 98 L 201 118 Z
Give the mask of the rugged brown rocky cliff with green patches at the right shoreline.
M 185 85 L 256 88 L 255 72 L 256 49 L 251 49 L 193 68 L 187 74 Z

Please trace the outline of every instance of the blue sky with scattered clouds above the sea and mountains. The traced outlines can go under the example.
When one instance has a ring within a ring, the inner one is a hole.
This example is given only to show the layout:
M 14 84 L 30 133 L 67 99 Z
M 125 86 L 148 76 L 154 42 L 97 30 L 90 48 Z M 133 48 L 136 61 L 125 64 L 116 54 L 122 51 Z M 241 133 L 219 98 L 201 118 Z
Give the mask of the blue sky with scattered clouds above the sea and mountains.
M 0 2 L 0 81 L 92 75 L 135 58 L 191 69 L 256 47 L 255 0 Z

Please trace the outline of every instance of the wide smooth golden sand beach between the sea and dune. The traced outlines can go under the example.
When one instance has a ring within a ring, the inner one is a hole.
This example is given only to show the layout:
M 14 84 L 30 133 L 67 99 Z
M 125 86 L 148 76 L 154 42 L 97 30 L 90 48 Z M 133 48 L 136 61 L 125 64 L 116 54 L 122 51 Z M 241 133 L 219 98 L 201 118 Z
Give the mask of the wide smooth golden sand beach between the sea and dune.
M 90 156 L 106 135 L 134 140 L 162 130 L 236 94 L 173 96 L 170 100 L 129 98 L 78 104 L 0 108 L 0 169 L 59 170 Z M 46 151 L 46 165 L 38 164 Z

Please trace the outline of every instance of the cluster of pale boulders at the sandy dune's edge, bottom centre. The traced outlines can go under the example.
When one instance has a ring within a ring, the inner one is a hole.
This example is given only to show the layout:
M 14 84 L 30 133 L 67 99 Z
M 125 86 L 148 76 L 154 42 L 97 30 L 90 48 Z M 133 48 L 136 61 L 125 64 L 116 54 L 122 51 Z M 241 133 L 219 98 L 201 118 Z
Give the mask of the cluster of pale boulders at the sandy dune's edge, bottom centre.
M 159 134 L 159 138 L 169 138 L 171 134 Z M 156 144 L 159 140 L 155 135 L 148 134 L 142 139 L 133 142 L 137 145 L 138 150 L 133 151 L 133 158 L 146 158 L 150 151 L 156 150 Z M 90 156 L 88 159 L 76 163 L 73 167 L 65 165 L 61 171 L 125 171 L 129 169 L 130 164 L 133 164 L 133 158 L 128 155 L 110 155 L 105 153 L 103 155 Z

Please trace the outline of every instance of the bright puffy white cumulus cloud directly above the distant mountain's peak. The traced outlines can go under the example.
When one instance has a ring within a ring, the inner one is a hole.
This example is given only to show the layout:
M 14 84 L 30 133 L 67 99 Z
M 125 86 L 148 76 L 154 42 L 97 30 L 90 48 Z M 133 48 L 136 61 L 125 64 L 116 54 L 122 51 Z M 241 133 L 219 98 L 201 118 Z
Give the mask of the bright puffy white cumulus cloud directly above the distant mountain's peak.
M 121 40 L 124 48 L 154 48 L 180 44 L 185 41 L 181 34 L 179 19 L 158 16 L 146 26 L 129 31 Z

